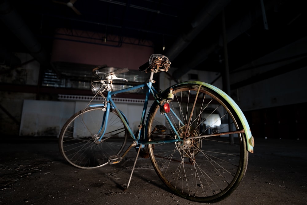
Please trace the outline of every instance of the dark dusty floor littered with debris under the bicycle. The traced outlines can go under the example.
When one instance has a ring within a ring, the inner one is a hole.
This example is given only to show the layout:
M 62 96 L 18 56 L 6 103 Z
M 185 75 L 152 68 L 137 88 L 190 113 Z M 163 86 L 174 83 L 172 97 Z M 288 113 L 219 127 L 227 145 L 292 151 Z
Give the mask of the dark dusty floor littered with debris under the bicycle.
M 216 204 L 307 204 L 307 146 L 304 140 L 255 139 L 247 173 L 237 190 Z M 0 204 L 200 204 L 169 193 L 150 159 L 136 152 L 120 164 L 84 170 L 61 158 L 56 139 L 2 139 Z M 142 166 L 141 166 L 142 162 Z

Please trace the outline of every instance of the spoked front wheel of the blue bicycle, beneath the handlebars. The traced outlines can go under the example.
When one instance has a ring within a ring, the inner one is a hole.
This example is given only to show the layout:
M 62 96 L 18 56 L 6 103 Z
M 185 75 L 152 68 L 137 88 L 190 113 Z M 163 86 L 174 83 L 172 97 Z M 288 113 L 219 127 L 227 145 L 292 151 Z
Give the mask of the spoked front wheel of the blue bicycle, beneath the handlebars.
M 110 108 L 102 140 L 95 143 L 93 139 L 102 135 L 103 129 L 100 132 L 99 129 L 104 114 L 103 107 L 89 107 L 74 114 L 64 124 L 59 136 L 59 149 L 69 164 L 83 169 L 99 168 L 108 164 L 109 156 L 122 152 L 127 129 L 113 108 Z

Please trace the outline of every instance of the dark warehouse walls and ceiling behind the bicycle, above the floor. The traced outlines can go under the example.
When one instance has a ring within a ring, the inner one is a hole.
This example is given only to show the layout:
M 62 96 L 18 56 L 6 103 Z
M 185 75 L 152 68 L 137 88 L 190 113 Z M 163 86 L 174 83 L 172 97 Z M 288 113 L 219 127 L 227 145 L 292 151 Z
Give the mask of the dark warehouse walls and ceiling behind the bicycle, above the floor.
M 135 85 L 148 77 L 138 67 L 160 53 L 172 62 L 159 75 L 160 89 L 186 80 L 207 82 L 235 100 L 255 139 L 306 140 L 305 4 L 0 1 L 2 136 L 57 136 L 92 96 L 91 69 L 128 67 L 128 85 Z M 127 115 L 142 105 L 142 93 L 119 98 L 126 99 L 121 109 Z

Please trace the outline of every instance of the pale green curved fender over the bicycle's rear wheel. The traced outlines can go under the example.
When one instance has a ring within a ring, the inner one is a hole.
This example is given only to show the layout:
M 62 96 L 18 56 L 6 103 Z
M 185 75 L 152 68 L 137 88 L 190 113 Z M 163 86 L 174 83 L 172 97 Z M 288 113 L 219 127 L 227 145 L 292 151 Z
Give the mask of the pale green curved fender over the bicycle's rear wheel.
M 246 137 L 247 151 L 254 153 L 254 145 L 255 145 L 254 137 L 251 134 L 251 129 L 248 125 L 248 122 L 247 122 L 242 110 L 235 103 L 235 101 L 231 97 L 229 97 L 225 92 L 223 92 L 221 89 L 219 89 L 219 88 L 217 88 L 213 85 L 210 85 L 208 83 L 204 83 L 204 82 L 200 82 L 200 81 L 185 81 L 185 82 L 181 82 L 181 83 L 177 83 L 175 85 L 172 85 L 171 87 L 169 87 L 168 89 L 166 89 L 162 93 L 165 93 L 165 92 L 168 93 L 170 88 L 174 89 L 174 88 L 180 87 L 182 85 L 186 85 L 186 84 L 197 84 L 197 85 L 202 85 L 204 87 L 207 87 L 207 88 L 215 91 L 216 93 L 218 93 L 221 97 L 223 97 L 231 105 L 231 107 L 234 109 L 235 113 L 239 116 L 239 120 L 241 121 L 241 123 L 243 125 L 245 137 Z

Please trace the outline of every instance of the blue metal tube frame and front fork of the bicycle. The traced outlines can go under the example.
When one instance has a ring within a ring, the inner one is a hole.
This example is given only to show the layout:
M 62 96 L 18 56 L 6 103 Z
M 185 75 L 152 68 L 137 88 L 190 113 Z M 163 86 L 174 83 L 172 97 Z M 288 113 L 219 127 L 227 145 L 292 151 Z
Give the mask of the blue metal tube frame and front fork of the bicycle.
M 121 90 L 117 90 L 117 91 L 109 91 L 107 93 L 107 98 L 106 98 L 106 102 L 107 102 L 107 106 L 106 107 L 107 108 L 106 108 L 106 112 L 104 113 L 103 121 L 102 121 L 101 127 L 99 129 L 99 132 L 102 130 L 103 125 L 104 125 L 104 130 L 103 130 L 103 133 L 100 136 L 99 140 L 97 140 L 98 142 L 100 142 L 103 139 L 103 136 L 104 136 L 104 134 L 106 132 L 107 122 L 108 122 L 108 118 L 109 118 L 109 113 L 110 113 L 110 108 L 111 107 L 114 108 L 115 111 L 117 112 L 117 114 L 119 115 L 119 117 L 122 120 L 123 124 L 125 125 L 125 127 L 128 130 L 128 132 L 130 133 L 132 139 L 134 139 L 137 142 L 138 146 L 136 148 L 138 148 L 140 145 L 142 146 L 142 145 L 145 145 L 145 144 L 159 144 L 159 143 L 171 143 L 171 142 L 179 142 L 179 141 L 182 142 L 183 141 L 180 138 L 176 138 L 176 139 L 172 139 L 172 140 L 159 140 L 159 141 L 151 141 L 151 142 L 142 141 L 141 142 L 141 134 L 142 134 L 141 129 L 142 129 L 142 126 L 143 126 L 143 124 L 145 122 L 145 116 L 146 116 L 146 111 L 147 111 L 147 106 L 148 106 L 150 94 L 152 94 L 153 96 L 158 94 L 156 89 L 154 89 L 154 87 L 152 86 L 152 79 L 153 79 L 153 73 L 150 74 L 150 80 L 147 83 L 143 83 L 143 84 L 140 84 L 140 85 L 135 85 L 133 87 L 125 88 L 125 89 L 121 89 Z M 112 96 L 116 95 L 116 94 L 119 94 L 119 93 L 125 93 L 125 92 L 129 92 L 129 91 L 132 91 L 132 90 L 144 88 L 144 87 L 146 87 L 146 96 L 145 96 L 144 107 L 143 107 L 143 110 L 142 110 L 141 122 L 140 122 L 140 126 L 139 126 L 139 130 L 140 131 L 138 132 L 138 135 L 135 136 L 135 134 L 132 132 L 132 130 L 131 130 L 130 126 L 129 126 L 129 123 L 128 123 L 128 120 L 127 120 L 126 116 L 116 107 L 115 102 L 112 100 Z M 155 100 L 157 102 L 159 102 L 157 99 L 155 99 Z M 93 105 L 89 105 L 89 106 L 90 107 L 100 107 L 100 106 L 104 107 L 105 104 L 93 104 Z M 168 118 L 168 116 L 165 113 L 164 113 L 164 115 L 166 116 L 166 119 L 169 121 L 169 123 L 172 124 L 170 119 Z M 179 134 L 177 133 L 177 130 L 175 129 L 175 127 L 172 126 L 172 128 L 173 128 L 174 133 L 177 136 L 179 136 Z

